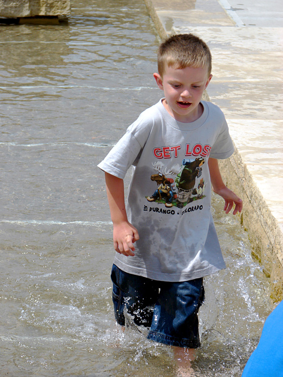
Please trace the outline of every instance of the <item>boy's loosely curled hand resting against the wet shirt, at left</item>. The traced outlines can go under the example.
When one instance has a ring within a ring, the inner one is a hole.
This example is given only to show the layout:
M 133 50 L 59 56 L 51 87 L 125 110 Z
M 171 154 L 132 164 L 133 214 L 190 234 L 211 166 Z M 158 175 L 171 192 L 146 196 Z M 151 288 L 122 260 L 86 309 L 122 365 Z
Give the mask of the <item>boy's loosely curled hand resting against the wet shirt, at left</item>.
M 113 223 L 114 249 L 126 256 L 134 256 L 134 243 L 139 239 L 138 231 L 128 222 Z

